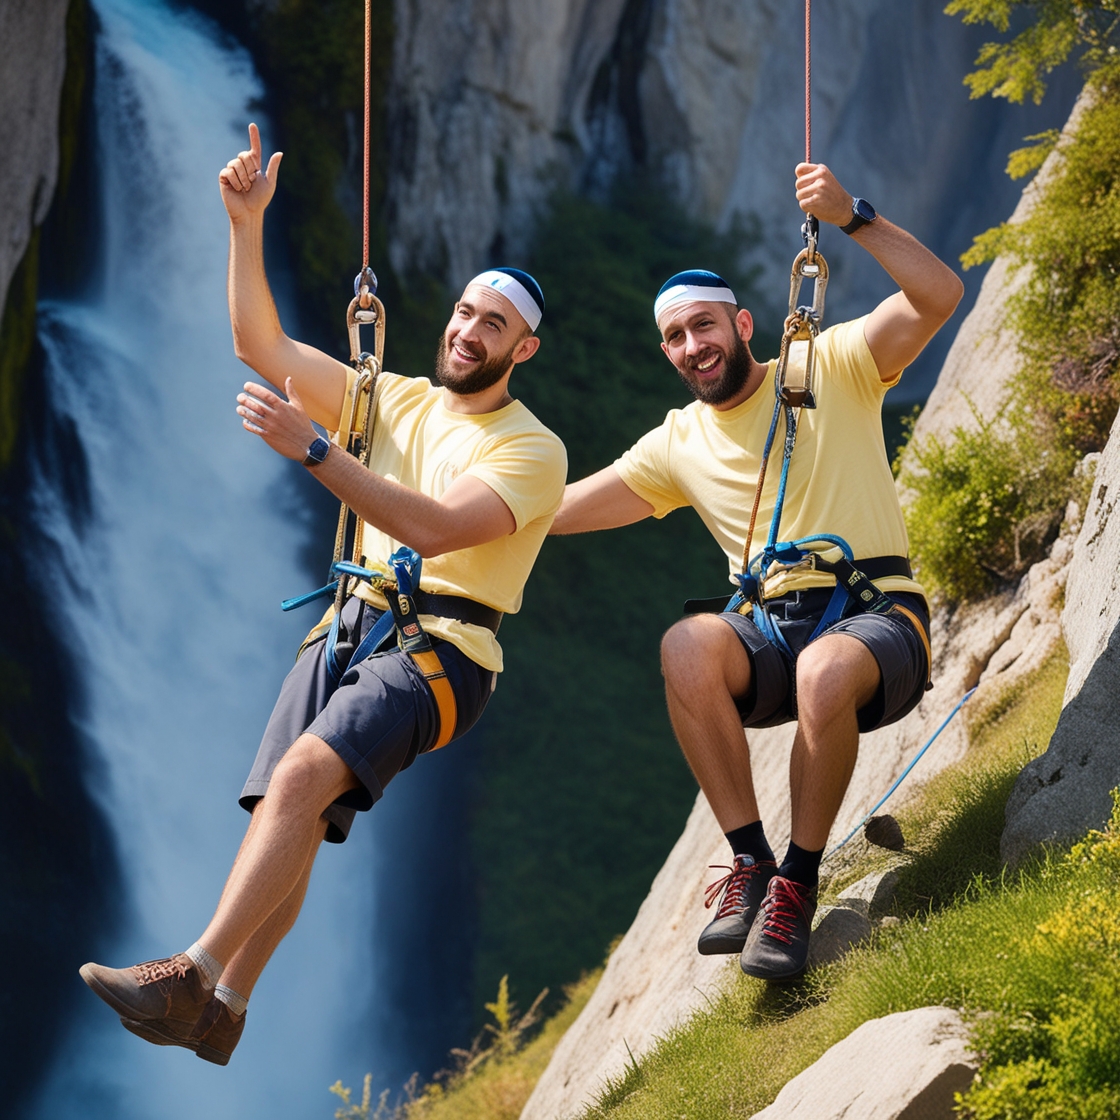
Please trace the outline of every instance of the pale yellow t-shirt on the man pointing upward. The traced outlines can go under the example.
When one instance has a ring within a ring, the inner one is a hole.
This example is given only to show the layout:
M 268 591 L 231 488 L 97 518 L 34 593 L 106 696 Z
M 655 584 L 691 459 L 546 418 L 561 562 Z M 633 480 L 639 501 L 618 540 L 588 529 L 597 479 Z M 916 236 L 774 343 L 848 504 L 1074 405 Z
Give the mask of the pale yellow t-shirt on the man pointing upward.
M 450 412 L 444 407 L 444 390 L 427 377 L 382 373 L 376 394 L 372 470 L 435 498 L 460 475 L 473 475 L 505 502 L 516 523 L 507 536 L 426 558 L 421 589 L 461 595 L 503 614 L 516 614 L 563 497 L 568 456 L 560 438 L 520 401 L 480 416 Z M 389 557 L 401 543 L 366 522 L 362 536 L 366 567 L 388 575 Z M 385 607 L 384 598 L 367 584 L 360 582 L 355 590 L 373 606 Z M 423 614 L 420 624 L 484 669 L 501 672 L 502 647 L 485 626 Z

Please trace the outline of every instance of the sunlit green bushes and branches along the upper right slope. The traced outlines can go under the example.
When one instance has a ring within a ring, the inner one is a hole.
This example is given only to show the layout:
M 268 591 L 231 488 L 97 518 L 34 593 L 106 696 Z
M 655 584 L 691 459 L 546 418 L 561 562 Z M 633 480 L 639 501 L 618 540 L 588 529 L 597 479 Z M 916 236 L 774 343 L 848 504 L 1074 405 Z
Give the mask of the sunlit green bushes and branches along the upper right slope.
M 1075 50 L 1090 74 L 1084 111 L 1030 213 L 980 234 L 962 258 L 971 268 L 1001 256 L 1023 273 L 1007 302 L 1023 357 L 1007 422 L 959 429 L 952 446 L 928 441 L 906 478 L 924 577 L 968 598 L 1039 557 L 1065 503 L 1080 496 L 1074 464 L 1104 446 L 1120 407 L 1120 0 L 954 0 L 946 11 L 1001 32 L 1017 12 L 1032 17 L 1009 43 L 984 46 L 967 80 L 973 96 L 1038 101 L 1045 74 Z M 1054 132 L 1028 139 L 1034 146 L 1008 162 L 1015 177 L 1058 142 Z

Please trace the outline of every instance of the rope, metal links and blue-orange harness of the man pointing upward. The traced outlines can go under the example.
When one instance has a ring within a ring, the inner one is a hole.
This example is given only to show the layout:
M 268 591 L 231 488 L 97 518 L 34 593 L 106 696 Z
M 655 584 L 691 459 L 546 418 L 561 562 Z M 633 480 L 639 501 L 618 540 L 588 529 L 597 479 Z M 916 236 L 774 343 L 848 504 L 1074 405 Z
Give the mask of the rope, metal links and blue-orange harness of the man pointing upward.
M 370 86 L 372 58 L 371 0 L 365 0 L 365 146 L 363 169 L 362 268 L 354 278 L 354 298 L 346 308 L 346 333 L 349 338 L 349 362 L 354 376 L 349 380 L 343 407 L 342 423 L 334 441 L 353 455 L 363 467 L 370 467 L 373 449 L 377 379 L 382 370 L 385 345 L 385 308 L 377 298 L 377 278 L 370 267 Z M 373 353 L 362 348 L 362 327 L 373 327 Z M 362 541 L 363 521 L 344 501 L 338 511 L 335 551 L 330 563 L 330 581 L 318 590 L 286 599 L 281 610 L 295 610 L 316 599 L 334 597 L 324 618 L 311 629 L 297 657 L 314 642 L 325 637 L 327 672 L 337 684 L 343 675 L 367 657 L 375 656 L 388 645 L 394 632 L 396 645 L 407 653 L 423 674 L 439 712 L 439 731 L 432 750 L 446 746 L 455 734 L 458 709 L 455 692 L 431 640 L 420 625 L 420 613 L 485 626 L 497 633 L 502 613 L 473 599 L 455 595 L 430 595 L 420 590 L 423 561 L 410 548 L 400 548 L 389 558 L 392 577 L 366 567 Z M 357 634 L 343 627 L 343 606 L 353 595 L 357 582 L 368 584 L 380 592 L 389 609 L 383 612 L 368 632 L 355 642 Z

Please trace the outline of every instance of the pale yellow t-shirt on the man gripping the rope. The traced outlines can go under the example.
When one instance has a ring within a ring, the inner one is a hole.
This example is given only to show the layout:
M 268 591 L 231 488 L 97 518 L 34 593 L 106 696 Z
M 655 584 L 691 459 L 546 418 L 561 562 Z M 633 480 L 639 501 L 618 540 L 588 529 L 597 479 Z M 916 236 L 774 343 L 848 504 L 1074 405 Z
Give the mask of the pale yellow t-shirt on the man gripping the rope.
M 906 556 L 906 523 L 883 444 L 880 407 L 889 384 L 864 337 L 864 319 L 841 323 L 816 339 L 816 408 L 802 409 L 790 464 L 780 541 L 816 533 L 842 536 L 857 561 Z M 655 517 L 691 505 L 727 556 L 731 581 L 743 570 L 758 467 L 774 411 L 774 368 L 757 392 L 726 412 L 696 401 L 674 409 L 616 463 L 626 485 L 653 506 Z M 900 374 L 899 374 L 900 376 Z M 778 419 L 750 554 L 765 544 L 782 474 L 784 417 Z M 825 548 L 827 545 L 819 545 Z M 766 597 L 831 587 L 825 572 L 793 570 L 767 579 Z M 885 591 L 921 586 L 902 576 L 875 581 Z

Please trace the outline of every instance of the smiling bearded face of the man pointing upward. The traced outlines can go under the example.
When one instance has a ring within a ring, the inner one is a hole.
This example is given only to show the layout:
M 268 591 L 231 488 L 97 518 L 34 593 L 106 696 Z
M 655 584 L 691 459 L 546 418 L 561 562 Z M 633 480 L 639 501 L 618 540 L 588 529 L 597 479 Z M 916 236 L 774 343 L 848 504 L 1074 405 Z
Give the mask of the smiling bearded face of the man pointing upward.
M 468 284 L 440 339 L 436 380 L 460 396 L 485 392 L 531 357 L 539 342 L 510 300 Z

